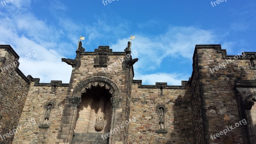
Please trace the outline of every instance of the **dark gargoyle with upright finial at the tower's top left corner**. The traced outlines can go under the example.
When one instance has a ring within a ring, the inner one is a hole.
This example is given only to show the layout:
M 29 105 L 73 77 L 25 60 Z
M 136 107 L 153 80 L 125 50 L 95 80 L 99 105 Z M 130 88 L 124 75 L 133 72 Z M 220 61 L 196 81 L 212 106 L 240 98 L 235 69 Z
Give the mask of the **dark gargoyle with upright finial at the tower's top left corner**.
M 68 65 L 71 65 L 72 68 L 77 67 L 78 61 L 79 61 L 79 57 L 80 57 L 80 53 L 84 52 L 84 51 L 85 51 L 85 49 L 82 47 L 82 42 L 79 41 L 78 48 L 76 50 L 76 58 L 74 60 L 73 59 L 61 58 L 61 61 L 64 61 Z

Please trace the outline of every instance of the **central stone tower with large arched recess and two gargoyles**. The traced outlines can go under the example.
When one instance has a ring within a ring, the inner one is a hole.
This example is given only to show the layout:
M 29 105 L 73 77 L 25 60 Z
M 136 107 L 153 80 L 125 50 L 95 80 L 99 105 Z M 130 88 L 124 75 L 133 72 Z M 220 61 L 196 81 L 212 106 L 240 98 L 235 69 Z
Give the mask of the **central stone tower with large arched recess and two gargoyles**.
M 132 65 L 137 61 L 129 46 L 125 52 L 112 52 L 109 46 L 83 52 L 80 45 L 74 60 L 62 59 L 74 68 L 57 143 L 127 143 L 129 124 L 125 121 L 130 118 Z M 119 125 L 124 129 L 112 134 Z

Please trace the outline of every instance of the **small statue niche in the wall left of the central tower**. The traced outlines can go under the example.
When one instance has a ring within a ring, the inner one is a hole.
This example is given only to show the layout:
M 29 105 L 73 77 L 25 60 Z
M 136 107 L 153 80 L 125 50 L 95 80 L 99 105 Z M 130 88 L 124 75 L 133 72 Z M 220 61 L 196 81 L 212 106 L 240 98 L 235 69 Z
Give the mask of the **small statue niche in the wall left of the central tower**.
M 50 125 L 50 114 L 52 109 L 54 108 L 54 102 L 48 102 L 44 105 L 44 114 L 43 118 L 41 120 L 41 124 L 39 125 L 39 128 L 47 129 Z

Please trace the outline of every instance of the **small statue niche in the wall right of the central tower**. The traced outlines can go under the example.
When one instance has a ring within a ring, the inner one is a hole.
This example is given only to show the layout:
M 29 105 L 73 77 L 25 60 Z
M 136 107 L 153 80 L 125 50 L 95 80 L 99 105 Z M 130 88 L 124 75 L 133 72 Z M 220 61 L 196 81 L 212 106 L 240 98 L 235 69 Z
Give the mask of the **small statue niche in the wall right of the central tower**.
M 157 105 L 156 107 L 156 132 L 167 133 L 166 131 L 166 112 L 165 105 Z

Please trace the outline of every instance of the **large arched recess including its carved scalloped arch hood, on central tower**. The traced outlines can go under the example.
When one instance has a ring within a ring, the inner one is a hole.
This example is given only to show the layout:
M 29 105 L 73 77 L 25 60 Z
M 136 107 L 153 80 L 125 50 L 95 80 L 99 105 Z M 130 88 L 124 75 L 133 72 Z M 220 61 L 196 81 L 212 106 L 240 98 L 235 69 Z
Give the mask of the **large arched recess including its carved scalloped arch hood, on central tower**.
M 73 97 L 81 97 L 76 133 L 108 133 L 113 113 L 110 99 L 118 96 L 116 84 L 106 77 L 91 77 L 78 84 L 73 92 Z

